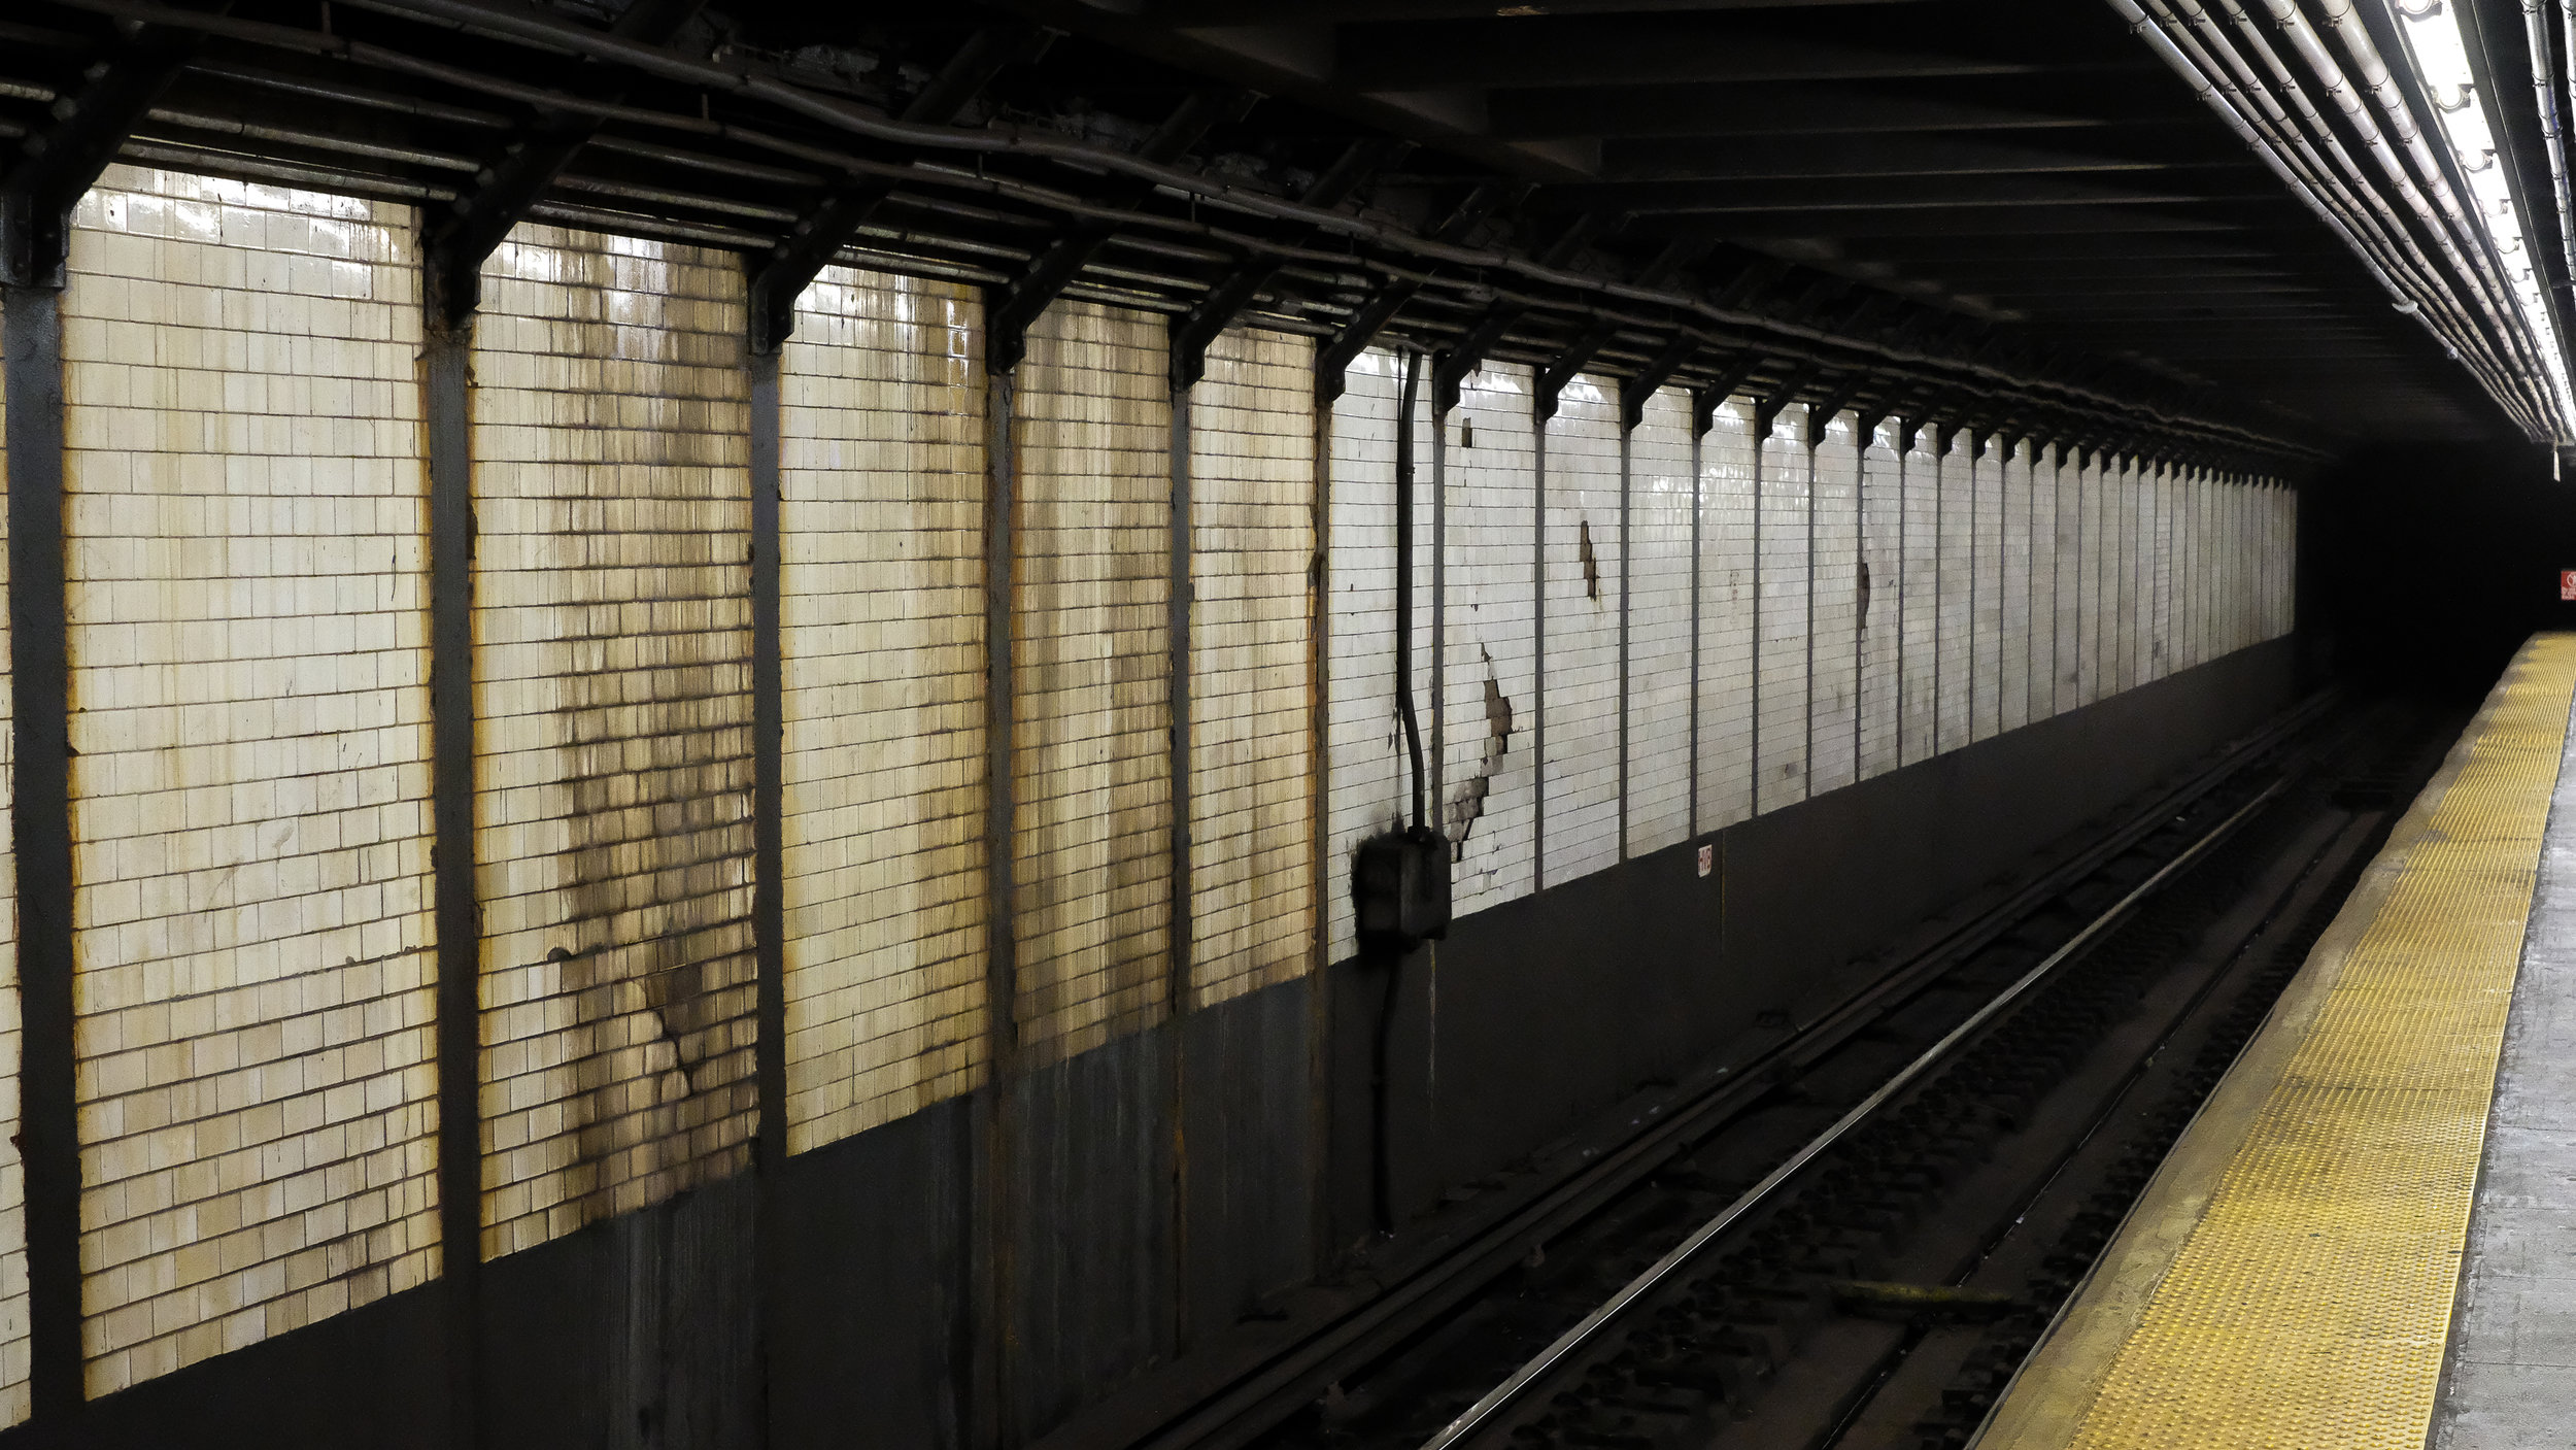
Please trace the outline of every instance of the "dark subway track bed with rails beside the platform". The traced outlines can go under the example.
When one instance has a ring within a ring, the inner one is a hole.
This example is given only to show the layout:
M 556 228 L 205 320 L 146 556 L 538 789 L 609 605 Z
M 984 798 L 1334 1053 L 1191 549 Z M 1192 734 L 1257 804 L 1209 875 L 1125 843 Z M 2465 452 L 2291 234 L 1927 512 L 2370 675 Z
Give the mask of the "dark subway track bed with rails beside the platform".
M 1965 1445 L 2458 724 L 2311 701 L 1128 1442 Z

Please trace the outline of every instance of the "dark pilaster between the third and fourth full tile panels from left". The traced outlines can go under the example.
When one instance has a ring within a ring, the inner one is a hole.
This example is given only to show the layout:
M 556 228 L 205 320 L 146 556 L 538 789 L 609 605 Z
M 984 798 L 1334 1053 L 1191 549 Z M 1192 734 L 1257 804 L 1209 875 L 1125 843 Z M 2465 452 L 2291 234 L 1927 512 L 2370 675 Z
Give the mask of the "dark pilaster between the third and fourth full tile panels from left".
M 984 379 L 984 840 L 992 842 L 984 865 L 984 919 L 992 922 L 984 945 L 984 1064 L 992 1089 L 987 1092 L 976 1192 L 974 1267 L 969 1303 L 981 1306 L 976 1316 L 976 1370 L 969 1404 L 981 1417 L 966 1427 L 969 1445 L 999 1445 L 1002 1427 L 1018 1424 L 1018 1411 L 1002 1404 L 1010 1375 L 1010 1095 L 1020 1079 L 1020 945 L 1012 932 L 1018 896 L 1018 868 L 1012 842 L 1018 840 L 1018 791 L 1012 783 L 1012 592 L 1018 585 L 1012 561 L 1018 559 L 1018 476 L 1020 451 L 1015 440 L 1018 381 L 1010 371 L 994 368 Z

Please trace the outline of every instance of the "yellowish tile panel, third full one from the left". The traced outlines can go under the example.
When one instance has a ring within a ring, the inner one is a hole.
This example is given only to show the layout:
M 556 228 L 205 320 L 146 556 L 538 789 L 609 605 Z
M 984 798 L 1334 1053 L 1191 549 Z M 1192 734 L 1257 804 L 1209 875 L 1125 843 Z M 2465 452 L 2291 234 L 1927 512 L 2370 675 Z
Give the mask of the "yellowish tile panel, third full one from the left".
M 984 1077 L 974 288 L 827 268 L 778 361 L 788 1151 Z

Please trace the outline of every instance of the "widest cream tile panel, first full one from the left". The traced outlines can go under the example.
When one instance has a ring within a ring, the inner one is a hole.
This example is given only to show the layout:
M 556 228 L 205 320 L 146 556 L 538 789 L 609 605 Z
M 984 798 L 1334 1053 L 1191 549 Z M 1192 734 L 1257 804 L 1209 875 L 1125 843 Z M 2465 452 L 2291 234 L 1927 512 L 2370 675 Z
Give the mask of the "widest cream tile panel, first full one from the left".
M 72 992 L 103 1393 L 438 1270 L 425 479 L 402 209 L 118 167 L 75 224 Z

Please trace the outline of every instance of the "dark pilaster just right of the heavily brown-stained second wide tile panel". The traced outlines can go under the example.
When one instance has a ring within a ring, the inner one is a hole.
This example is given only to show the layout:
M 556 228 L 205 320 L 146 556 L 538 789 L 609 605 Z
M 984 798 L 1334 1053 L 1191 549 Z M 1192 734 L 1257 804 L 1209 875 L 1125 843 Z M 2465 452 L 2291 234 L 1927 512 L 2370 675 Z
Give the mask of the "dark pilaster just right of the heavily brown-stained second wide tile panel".
M 788 1164 L 788 986 L 786 986 L 786 675 L 778 618 L 778 353 L 747 355 L 752 373 L 752 1275 L 760 1303 L 760 1373 L 781 1329 L 778 1180 Z M 765 1404 L 765 1401 L 762 1401 Z

